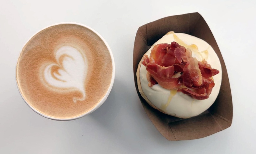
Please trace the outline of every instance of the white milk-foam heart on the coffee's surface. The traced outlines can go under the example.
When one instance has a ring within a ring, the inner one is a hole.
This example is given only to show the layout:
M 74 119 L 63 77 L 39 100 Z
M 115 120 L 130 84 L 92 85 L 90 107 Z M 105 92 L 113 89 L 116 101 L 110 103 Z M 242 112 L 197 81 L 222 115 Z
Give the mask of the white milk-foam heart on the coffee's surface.
M 55 53 L 57 63 L 46 65 L 43 73 L 45 86 L 52 86 L 54 90 L 77 90 L 82 98 L 73 98 L 73 101 L 84 101 L 86 97 L 84 81 L 87 74 L 88 62 L 76 48 L 63 46 Z

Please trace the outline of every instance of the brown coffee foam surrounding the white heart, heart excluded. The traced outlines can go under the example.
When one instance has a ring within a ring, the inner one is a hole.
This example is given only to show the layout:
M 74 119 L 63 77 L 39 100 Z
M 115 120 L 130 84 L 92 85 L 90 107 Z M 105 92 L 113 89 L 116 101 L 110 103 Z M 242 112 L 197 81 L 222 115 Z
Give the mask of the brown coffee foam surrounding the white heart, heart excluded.
M 62 46 L 77 49 L 88 61 L 86 97 L 82 101 L 73 100 L 83 97 L 76 88 L 57 88 L 43 82 L 43 66 L 58 65 L 55 52 Z M 55 118 L 77 117 L 91 110 L 106 94 L 111 78 L 112 60 L 107 46 L 93 31 L 76 24 L 51 26 L 34 35 L 22 49 L 16 67 L 16 80 L 24 100 Z

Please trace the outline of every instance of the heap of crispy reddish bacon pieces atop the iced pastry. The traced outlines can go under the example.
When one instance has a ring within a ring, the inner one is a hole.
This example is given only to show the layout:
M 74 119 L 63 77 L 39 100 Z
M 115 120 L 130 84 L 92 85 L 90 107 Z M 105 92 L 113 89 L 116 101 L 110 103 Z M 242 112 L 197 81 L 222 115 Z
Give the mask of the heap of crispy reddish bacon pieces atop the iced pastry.
M 209 98 L 215 83 L 210 77 L 219 73 L 207 61 L 197 61 L 192 51 L 176 42 L 154 46 L 150 57 L 144 55 L 142 64 L 148 71 L 149 86 L 159 84 L 166 89 L 177 89 L 195 99 Z M 179 77 L 173 77 L 181 72 Z

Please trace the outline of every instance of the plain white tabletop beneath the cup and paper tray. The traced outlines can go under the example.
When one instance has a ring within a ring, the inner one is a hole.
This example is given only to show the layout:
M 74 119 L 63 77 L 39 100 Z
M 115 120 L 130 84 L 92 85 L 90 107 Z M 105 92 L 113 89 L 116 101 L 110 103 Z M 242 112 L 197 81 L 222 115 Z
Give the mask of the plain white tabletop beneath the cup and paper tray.
M 255 1 L 1 0 L 0 153 L 256 153 Z M 199 12 L 225 60 L 233 99 L 230 128 L 197 140 L 168 141 L 147 117 L 132 66 L 139 26 Z M 73 121 L 39 116 L 22 100 L 15 66 L 24 43 L 45 26 L 73 21 L 98 31 L 112 49 L 116 77 L 107 101 Z

